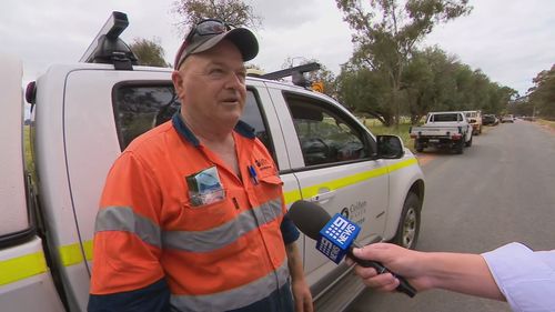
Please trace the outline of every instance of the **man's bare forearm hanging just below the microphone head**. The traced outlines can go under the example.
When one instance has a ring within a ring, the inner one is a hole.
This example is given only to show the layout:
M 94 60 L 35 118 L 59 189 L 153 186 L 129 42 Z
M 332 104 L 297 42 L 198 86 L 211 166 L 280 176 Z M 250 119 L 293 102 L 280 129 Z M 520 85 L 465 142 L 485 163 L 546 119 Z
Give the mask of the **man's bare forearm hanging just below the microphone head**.
M 293 242 L 285 245 L 285 251 L 287 253 L 287 265 L 291 274 L 291 288 L 293 298 L 295 299 L 295 311 L 312 312 L 312 294 L 304 279 L 303 262 L 299 249 Z

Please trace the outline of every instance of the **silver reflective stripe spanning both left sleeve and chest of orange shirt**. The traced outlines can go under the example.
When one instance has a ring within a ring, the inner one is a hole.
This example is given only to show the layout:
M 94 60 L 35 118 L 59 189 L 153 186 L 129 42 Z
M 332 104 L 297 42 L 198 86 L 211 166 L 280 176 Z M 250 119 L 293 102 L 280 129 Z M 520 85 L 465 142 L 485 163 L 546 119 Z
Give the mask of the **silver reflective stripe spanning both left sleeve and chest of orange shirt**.
M 159 225 L 135 214 L 129 207 L 108 207 L 99 211 L 94 231 L 125 231 L 135 233 L 145 243 L 158 248 L 210 252 L 233 243 L 262 224 L 272 222 L 282 214 L 281 208 L 280 198 L 260 208 L 244 211 L 234 220 L 206 231 L 161 231 Z

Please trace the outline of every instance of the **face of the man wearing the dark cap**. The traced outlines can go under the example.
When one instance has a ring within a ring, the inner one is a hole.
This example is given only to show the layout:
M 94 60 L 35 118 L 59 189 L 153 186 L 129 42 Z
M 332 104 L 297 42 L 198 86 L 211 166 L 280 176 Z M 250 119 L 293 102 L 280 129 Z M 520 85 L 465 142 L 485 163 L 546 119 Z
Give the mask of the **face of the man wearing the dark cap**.
M 190 56 L 172 79 L 185 117 L 214 127 L 238 122 L 246 98 L 245 68 L 232 42 Z

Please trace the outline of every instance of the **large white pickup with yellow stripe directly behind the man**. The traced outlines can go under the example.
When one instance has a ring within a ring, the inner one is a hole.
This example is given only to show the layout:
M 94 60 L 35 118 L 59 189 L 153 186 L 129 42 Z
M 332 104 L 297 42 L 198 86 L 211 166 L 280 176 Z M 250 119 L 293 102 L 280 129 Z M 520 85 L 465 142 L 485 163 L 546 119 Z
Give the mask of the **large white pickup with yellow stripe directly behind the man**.
M 121 26 L 122 19 L 127 22 L 114 12 L 108 23 Z M 0 56 L 2 312 L 85 311 L 107 172 L 133 138 L 180 105 L 171 70 L 133 64 L 121 30 L 105 29 L 85 62 L 52 64 L 28 85 L 28 130 L 22 63 Z M 242 119 L 278 163 L 287 207 L 314 201 L 359 223 L 362 243 L 383 238 L 415 246 L 424 177 L 397 137 L 373 135 L 322 93 L 260 78 L 248 78 L 246 84 Z M 28 134 L 36 172 L 24 161 Z M 302 235 L 297 243 L 317 311 L 343 311 L 363 284 L 350 268 L 320 254 L 311 239 Z

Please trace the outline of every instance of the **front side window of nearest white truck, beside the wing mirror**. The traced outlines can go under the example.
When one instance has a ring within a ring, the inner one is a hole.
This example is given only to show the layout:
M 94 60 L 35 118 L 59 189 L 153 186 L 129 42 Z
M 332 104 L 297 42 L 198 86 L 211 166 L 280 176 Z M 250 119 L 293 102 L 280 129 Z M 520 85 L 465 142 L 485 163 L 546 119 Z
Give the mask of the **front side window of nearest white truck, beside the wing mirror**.
M 299 95 L 286 97 L 305 165 L 365 159 L 371 155 L 362 129 L 329 103 Z

